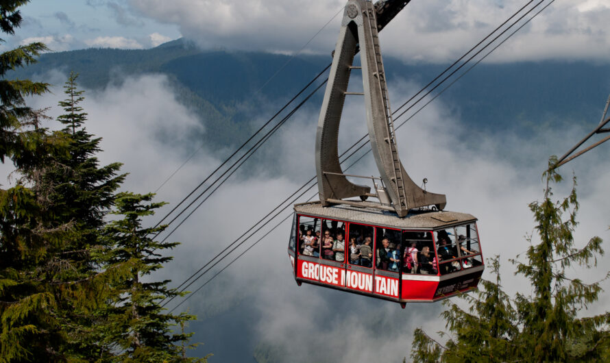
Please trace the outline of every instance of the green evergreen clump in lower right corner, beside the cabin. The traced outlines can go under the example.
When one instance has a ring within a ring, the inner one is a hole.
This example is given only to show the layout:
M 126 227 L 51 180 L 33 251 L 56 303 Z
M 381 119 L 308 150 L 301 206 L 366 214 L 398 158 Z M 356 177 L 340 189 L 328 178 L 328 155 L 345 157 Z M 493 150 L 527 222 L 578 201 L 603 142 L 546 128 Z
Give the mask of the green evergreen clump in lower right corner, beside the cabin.
M 551 158 L 549 166 L 555 162 Z M 581 314 L 598 300 L 600 281 L 585 284 L 569 278 L 566 271 L 570 266 L 595 267 L 596 258 L 604 253 L 602 240 L 594 237 L 581 249 L 574 246 L 576 178 L 570 195 L 553 201 L 551 184 L 561 182 L 561 176 L 550 167 L 544 177 L 544 199 L 529 205 L 539 242 L 534 245 L 529 236 L 525 262 L 511 260 L 515 274 L 530 281 L 532 295 L 517 292 L 511 299 L 502 291 L 496 257 L 488 264 L 496 281 L 482 281 L 476 295 L 463 296 L 468 310 L 446 303 L 449 309 L 442 316 L 452 338 L 445 345 L 422 329 L 415 330 L 411 351 L 415 362 L 607 362 L 610 358 L 610 312 Z

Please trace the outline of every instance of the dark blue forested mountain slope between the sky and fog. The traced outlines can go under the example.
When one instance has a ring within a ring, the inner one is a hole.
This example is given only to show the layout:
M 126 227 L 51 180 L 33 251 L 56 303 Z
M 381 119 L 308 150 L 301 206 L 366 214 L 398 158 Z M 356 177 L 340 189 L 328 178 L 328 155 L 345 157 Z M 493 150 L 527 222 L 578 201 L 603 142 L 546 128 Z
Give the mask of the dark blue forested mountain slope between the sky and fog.
M 330 55 L 291 59 L 270 53 L 201 51 L 181 39 L 146 50 L 47 53 L 17 77 L 36 79 L 57 68 L 80 73 L 86 88 L 101 88 L 117 77 L 164 73 L 180 101 L 206 123 L 206 142 L 227 145 L 243 140 L 252 131 L 248 121 L 271 116 L 330 61 Z M 391 87 L 401 80 L 423 86 L 446 68 L 444 64 L 408 65 L 391 57 L 385 57 L 385 63 Z M 478 64 L 441 99 L 468 126 L 484 132 L 511 130 L 526 137 L 549 125 L 593 122 L 609 92 L 608 64 L 521 62 Z M 321 95 L 310 107 L 319 107 Z M 396 108 L 411 95 L 391 97 Z

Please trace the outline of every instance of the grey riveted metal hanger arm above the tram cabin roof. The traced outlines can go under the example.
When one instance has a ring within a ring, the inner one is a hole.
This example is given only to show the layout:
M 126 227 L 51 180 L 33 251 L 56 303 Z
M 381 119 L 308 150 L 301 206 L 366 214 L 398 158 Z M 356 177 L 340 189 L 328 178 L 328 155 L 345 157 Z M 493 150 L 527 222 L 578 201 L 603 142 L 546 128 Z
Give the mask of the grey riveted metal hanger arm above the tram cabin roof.
M 388 3 L 394 4 L 394 7 L 400 7 L 401 4 L 404 7 L 408 1 L 382 2 L 380 8 L 386 9 L 387 21 L 400 11 L 394 11 L 398 8 L 385 8 L 384 4 Z M 445 195 L 419 188 L 404 171 L 398 157 L 379 45 L 377 14 L 371 1 L 350 0 L 345 5 L 317 128 L 316 168 L 320 201 L 329 205 L 338 199 L 349 197 L 365 199 L 370 192 L 369 187 L 352 184 L 345 175 L 341 175 L 343 171 L 339 165 L 337 151 L 341 112 L 350 74 L 354 68 L 354 56 L 359 47 L 371 148 L 381 178 L 388 188 L 393 209 L 400 217 L 406 216 L 409 209 L 426 205 L 436 205 L 437 208 L 443 209 L 446 205 Z

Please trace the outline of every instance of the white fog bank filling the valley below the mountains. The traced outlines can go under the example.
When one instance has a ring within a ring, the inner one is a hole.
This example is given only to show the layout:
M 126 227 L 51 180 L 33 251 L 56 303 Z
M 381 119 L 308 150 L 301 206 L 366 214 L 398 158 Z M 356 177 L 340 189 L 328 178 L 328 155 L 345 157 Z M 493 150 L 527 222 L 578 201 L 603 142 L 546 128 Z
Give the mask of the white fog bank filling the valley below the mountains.
M 65 77 L 58 75 L 57 79 L 55 83 L 62 84 Z M 396 82 L 391 89 L 395 104 L 400 104 L 401 95 L 412 95 L 417 86 Z M 56 105 L 63 96 L 57 88 L 53 95 L 37 98 L 36 106 Z M 162 75 L 127 78 L 98 92 L 87 91 L 85 97 L 82 105 L 88 112 L 87 129 L 103 138 L 101 162 L 123 162 L 123 172 L 130 173 L 125 190 L 156 190 L 201 147 L 194 135 L 205 132 L 205 116 L 185 108 Z M 445 104 L 441 97 L 401 127 L 398 145 L 402 162 L 417 184 L 426 177 L 428 190 L 447 195 L 447 210 L 467 212 L 479 219 L 483 254 L 486 258 L 500 255 L 504 287 L 509 292 L 528 293 L 524 290 L 527 285 L 513 276 L 514 268 L 508 262 L 527 249 L 524 235 L 533 233 L 535 223 L 528 203 L 542 197 L 541 174 L 548 156 L 567 151 L 596 123 L 591 120 L 589 125 L 549 129 L 524 141 L 510 131 L 483 134 L 469 129 L 467 120 L 454 116 L 459 114 L 456 110 L 459 105 Z M 61 113 L 57 107 L 49 111 L 51 116 Z M 182 245 L 171 251 L 173 262 L 154 278 L 171 278 L 172 286 L 178 285 L 314 175 L 318 115 L 310 111 L 295 116 L 261 150 L 266 162 L 250 166 L 247 175 L 229 179 L 173 234 L 171 240 Z M 361 102 L 348 99 L 339 135 L 340 152 L 365 132 Z M 603 158 L 608 147 L 602 145 L 563 166 L 566 181 L 554 188 L 555 195 L 563 197 L 570 190 L 572 172 L 578 177 L 579 246 L 595 235 L 610 240 L 610 162 Z M 210 154 L 204 145 L 159 190 L 157 199 L 170 204 L 151 221 L 173 208 L 221 162 L 207 156 Z M 268 167 L 282 171 L 282 176 L 269 177 L 265 172 Z M 349 172 L 378 174 L 371 155 Z M 303 201 L 315 192 L 306 193 Z M 280 216 L 289 214 L 286 211 Z M 258 227 L 257 236 L 278 222 Z M 286 253 L 289 225 L 290 219 L 180 307 L 199 316 L 199 321 L 191 323 L 196 333 L 193 340 L 204 342 L 197 355 L 214 353 L 210 362 L 252 361 L 256 349 L 261 354 L 282 355 L 275 358 L 290 362 L 400 361 L 408 357 L 415 327 L 424 327 L 429 333 L 443 329 L 440 303 L 409 304 L 402 310 L 387 301 L 306 284 L 297 287 Z M 608 262 L 607 257 L 598 260 L 600 266 L 608 266 Z M 574 268 L 573 273 L 585 281 L 600 277 L 599 271 Z M 489 278 L 487 271 L 484 277 Z M 206 279 L 189 290 L 203 281 Z M 604 287 L 609 286 L 605 283 Z M 604 293 L 587 314 L 603 311 L 609 299 Z

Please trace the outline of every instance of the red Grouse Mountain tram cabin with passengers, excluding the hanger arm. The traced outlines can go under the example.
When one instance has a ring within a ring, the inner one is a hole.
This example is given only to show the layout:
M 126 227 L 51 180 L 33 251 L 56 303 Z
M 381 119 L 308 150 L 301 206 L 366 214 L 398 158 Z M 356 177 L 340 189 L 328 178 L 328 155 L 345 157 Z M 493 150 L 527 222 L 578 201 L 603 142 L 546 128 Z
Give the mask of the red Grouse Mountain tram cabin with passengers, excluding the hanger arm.
M 345 241 L 342 257 L 324 244 L 326 236 L 337 240 L 339 234 Z M 319 237 L 313 246 L 308 235 Z M 382 244 L 385 238 L 387 247 Z M 352 255 L 352 242 L 361 247 L 367 240 L 371 257 Z M 416 251 L 411 253 L 413 247 Z M 398 262 L 382 258 L 386 248 L 396 251 Z M 428 255 L 426 263 L 422 251 Z M 434 302 L 473 290 L 483 274 L 476 218 L 457 212 L 414 212 L 398 218 L 391 212 L 351 205 L 295 205 L 289 255 L 298 284 L 402 304 Z

